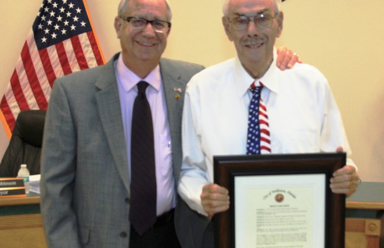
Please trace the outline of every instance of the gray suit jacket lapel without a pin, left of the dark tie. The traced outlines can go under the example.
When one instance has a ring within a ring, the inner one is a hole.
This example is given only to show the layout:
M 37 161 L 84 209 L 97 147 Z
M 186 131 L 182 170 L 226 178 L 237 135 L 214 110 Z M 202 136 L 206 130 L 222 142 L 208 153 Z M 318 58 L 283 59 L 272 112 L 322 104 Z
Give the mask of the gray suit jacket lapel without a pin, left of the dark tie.
M 102 126 L 107 137 L 108 147 L 129 195 L 127 148 L 124 139 L 119 90 L 114 70 L 114 60 L 117 58 L 118 54 L 105 65 L 105 73 L 95 82 L 95 86 L 100 89 L 100 91 L 95 94 L 95 99 Z

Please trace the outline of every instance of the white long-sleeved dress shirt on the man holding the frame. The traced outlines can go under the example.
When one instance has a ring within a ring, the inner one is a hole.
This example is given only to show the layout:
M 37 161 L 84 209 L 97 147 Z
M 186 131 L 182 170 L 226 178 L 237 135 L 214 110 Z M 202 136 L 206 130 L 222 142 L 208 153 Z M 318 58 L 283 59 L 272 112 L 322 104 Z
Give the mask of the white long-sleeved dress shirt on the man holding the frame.
M 276 56 L 276 55 L 275 55 Z M 272 62 L 262 78 L 272 153 L 351 153 L 342 118 L 326 78 L 296 64 L 280 71 Z M 254 81 L 238 58 L 196 74 L 185 93 L 178 192 L 191 209 L 207 215 L 200 194 L 213 182 L 213 155 L 246 154 L 248 105 Z M 353 164 L 348 159 L 348 164 Z

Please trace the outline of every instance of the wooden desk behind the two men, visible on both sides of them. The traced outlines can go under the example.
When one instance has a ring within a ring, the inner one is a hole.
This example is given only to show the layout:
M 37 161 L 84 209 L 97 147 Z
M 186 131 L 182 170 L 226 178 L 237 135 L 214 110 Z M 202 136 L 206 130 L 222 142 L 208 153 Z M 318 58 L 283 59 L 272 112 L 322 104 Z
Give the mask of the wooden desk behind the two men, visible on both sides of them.
M 46 247 L 40 196 L 0 198 L 0 247 Z M 346 202 L 346 248 L 384 248 L 384 183 L 362 182 Z

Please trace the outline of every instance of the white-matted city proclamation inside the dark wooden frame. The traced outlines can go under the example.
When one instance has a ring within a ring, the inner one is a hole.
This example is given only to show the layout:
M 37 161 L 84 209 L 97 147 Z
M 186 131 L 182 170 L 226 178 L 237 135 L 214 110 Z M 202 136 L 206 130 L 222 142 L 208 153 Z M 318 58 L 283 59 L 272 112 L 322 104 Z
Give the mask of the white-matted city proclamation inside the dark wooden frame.
M 324 248 L 324 174 L 235 176 L 235 247 Z

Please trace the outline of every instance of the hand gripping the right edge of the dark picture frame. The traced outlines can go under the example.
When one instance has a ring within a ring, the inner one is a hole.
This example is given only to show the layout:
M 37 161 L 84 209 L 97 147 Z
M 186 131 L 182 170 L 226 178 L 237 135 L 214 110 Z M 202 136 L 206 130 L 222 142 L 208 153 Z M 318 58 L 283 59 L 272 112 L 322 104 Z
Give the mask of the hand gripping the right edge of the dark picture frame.
M 354 166 L 344 166 L 335 171 L 330 179 L 330 188 L 333 193 L 352 195 L 359 185 L 359 174 Z

